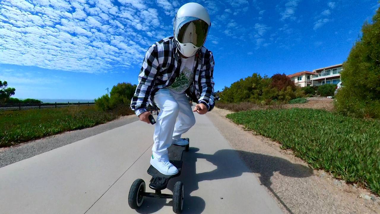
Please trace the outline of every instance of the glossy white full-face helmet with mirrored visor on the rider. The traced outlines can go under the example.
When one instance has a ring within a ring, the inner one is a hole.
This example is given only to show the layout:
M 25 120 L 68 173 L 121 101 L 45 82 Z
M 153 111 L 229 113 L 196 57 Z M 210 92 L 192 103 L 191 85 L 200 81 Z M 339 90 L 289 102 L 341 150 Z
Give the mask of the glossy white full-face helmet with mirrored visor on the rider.
M 179 52 L 191 57 L 204 45 L 211 26 L 206 8 L 198 3 L 187 3 L 177 11 L 174 19 L 174 40 Z

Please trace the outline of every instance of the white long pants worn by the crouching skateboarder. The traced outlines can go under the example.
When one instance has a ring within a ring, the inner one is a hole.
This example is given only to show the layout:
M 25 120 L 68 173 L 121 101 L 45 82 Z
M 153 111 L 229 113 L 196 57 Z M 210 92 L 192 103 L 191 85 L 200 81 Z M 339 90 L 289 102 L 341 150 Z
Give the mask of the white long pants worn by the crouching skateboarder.
M 160 162 L 169 161 L 169 146 L 195 124 L 194 113 L 185 93 L 159 89 L 154 95 L 154 102 L 161 111 L 154 127 L 153 156 Z

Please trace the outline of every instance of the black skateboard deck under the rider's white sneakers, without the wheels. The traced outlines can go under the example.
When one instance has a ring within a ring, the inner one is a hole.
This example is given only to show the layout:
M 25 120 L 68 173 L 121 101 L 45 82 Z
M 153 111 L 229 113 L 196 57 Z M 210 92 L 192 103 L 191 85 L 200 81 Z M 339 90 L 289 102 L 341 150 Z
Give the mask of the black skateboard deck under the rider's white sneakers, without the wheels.
M 186 138 L 186 140 L 189 141 L 188 138 Z M 152 176 L 152 179 L 150 179 L 149 184 L 150 188 L 152 188 L 153 190 L 163 190 L 168 185 L 170 179 L 172 179 L 173 177 L 180 176 L 182 170 L 182 156 L 186 147 L 188 147 L 188 145 L 172 144 L 168 148 L 169 161 L 178 169 L 177 174 L 164 175 L 161 172 L 159 172 L 156 168 L 154 168 L 152 165 L 149 166 L 147 172 Z

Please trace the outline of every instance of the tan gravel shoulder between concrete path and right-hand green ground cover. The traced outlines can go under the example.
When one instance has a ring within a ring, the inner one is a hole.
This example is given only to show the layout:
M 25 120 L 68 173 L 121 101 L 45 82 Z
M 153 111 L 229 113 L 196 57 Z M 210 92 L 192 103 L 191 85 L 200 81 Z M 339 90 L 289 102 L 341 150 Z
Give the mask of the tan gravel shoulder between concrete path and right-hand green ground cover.
M 310 169 L 291 150 L 280 149 L 279 143 L 244 131 L 225 117 L 228 113 L 233 112 L 214 108 L 207 116 L 284 213 L 380 213 L 380 197 Z

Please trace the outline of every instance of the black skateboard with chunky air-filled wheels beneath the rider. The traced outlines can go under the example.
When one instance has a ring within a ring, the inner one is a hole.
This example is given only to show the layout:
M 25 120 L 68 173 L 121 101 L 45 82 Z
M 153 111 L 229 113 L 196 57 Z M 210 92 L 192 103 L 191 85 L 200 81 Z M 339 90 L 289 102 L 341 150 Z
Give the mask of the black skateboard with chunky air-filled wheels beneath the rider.
M 188 138 L 185 139 L 189 141 Z M 161 193 L 161 190 L 166 189 L 168 182 L 173 177 L 178 177 L 182 170 L 182 156 L 184 151 L 188 152 L 189 145 L 175 145 L 172 144 L 168 148 L 169 160 L 176 168 L 178 173 L 175 175 L 164 175 L 158 172 L 152 165 L 147 170 L 148 174 L 152 176 L 150 179 L 149 187 L 155 190 L 154 193 L 145 192 L 145 182 L 142 179 L 136 179 L 131 185 L 128 195 L 128 204 L 132 209 L 138 209 L 144 202 L 144 197 L 150 198 L 171 198 L 173 199 L 173 212 L 180 214 L 184 204 L 184 185 L 178 181 L 174 184 L 173 195 Z

